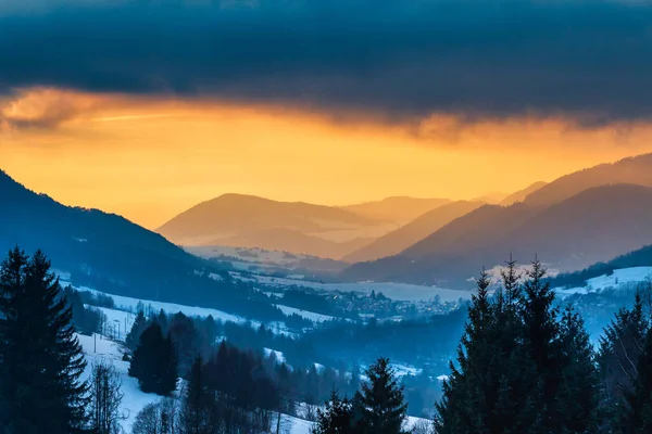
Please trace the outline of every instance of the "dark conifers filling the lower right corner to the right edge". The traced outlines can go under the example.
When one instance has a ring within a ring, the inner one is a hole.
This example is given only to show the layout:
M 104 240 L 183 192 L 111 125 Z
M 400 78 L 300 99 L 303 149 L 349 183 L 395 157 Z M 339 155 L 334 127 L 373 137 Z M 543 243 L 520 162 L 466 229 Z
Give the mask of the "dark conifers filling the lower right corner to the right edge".
M 510 260 L 489 293 L 482 272 L 437 404 L 437 433 L 650 433 L 652 330 L 637 294 L 594 349 L 581 316 L 561 308 L 535 260 Z

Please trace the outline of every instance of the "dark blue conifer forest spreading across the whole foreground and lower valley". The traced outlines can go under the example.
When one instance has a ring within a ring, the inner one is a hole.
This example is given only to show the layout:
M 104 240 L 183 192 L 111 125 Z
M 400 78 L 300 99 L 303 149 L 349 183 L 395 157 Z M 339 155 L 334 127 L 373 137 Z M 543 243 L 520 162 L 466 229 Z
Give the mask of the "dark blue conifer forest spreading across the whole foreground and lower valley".
M 442 396 L 421 404 L 432 408 L 431 423 L 413 432 L 652 432 L 652 294 L 637 293 L 593 345 L 581 315 L 555 301 L 540 261 L 524 273 L 507 263 L 494 291 L 485 271 L 476 283 Z M 110 362 L 88 367 L 76 337 L 93 332 L 101 315 L 77 305 L 82 295 L 61 288 L 41 252 L 9 253 L 0 295 L 4 432 L 121 433 L 120 375 Z M 284 339 L 265 327 L 249 328 L 248 337 L 212 318 L 148 314 L 138 311 L 124 359 L 140 390 L 161 399 L 137 414 L 135 434 L 278 433 L 281 414 L 313 421 L 315 434 L 406 432 L 414 384 L 401 381 L 387 358 L 362 372 L 299 366 L 247 345 Z M 405 333 L 415 327 L 426 326 L 409 322 Z M 315 331 L 314 341 L 327 341 L 333 330 Z M 383 324 L 349 340 L 376 335 Z M 437 348 L 437 340 L 419 345 Z M 86 369 L 91 374 L 83 381 Z

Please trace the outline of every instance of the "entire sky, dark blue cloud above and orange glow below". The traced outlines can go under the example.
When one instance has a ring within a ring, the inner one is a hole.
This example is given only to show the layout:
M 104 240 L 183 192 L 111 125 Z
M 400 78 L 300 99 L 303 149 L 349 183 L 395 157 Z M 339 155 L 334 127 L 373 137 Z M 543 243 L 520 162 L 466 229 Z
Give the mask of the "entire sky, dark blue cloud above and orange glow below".
M 513 192 L 652 152 L 642 1 L 0 0 L 0 168 L 148 228 L 227 192 Z

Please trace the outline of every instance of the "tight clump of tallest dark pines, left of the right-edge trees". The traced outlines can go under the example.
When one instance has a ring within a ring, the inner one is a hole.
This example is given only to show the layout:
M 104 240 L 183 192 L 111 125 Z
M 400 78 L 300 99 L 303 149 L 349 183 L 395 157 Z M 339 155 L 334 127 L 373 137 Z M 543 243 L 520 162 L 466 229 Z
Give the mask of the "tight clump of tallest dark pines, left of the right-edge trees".
M 584 433 L 595 410 L 595 369 L 581 318 L 557 323 L 554 293 L 535 260 L 518 282 L 515 261 L 492 301 L 484 272 L 436 405 L 439 434 Z

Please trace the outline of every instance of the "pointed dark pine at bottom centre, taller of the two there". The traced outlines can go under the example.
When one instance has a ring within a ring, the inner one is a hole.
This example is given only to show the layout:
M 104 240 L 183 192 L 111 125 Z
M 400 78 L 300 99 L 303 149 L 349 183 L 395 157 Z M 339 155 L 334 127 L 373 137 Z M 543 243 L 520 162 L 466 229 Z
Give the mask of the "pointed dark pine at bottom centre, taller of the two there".
M 374 434 L 400 434 L 408 405 L 403 390 L 386 358 L 378 359 L 365 371 L 368 382 L 362 385 L 362 421 L 365 431 Z

